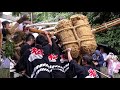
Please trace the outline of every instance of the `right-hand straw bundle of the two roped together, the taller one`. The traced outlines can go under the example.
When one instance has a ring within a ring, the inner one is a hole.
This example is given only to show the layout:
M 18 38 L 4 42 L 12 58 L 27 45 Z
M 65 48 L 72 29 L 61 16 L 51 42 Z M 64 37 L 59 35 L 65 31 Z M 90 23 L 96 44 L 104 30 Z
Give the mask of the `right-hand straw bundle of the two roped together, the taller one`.
M 88 18 L 84 15 L 77 14 L 71 16 L 70 20 L 80 39 L 80 52 L 82 54 L 92 54 L 95 51 L 97 44 L 94 35 L 91 32 Z

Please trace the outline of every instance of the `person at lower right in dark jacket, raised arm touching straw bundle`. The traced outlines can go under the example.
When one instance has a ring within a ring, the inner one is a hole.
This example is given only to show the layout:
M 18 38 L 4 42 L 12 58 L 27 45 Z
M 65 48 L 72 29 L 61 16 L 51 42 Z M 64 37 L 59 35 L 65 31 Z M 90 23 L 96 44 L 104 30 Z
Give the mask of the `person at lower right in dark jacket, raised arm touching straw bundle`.
M 75 74 L 77 75 L 77 78 L 99 78 L 97 72 L 94 70 L 94 65 L 92 63 L 92 57 L 89 55 L 83 56 L 83 66 L 78 65 L 75 60 L 73 60 L 71 53 L 71 49 L 67 49 L 68 54 L 68 60 L 69 60 L 69 68 L 73 69 Z

